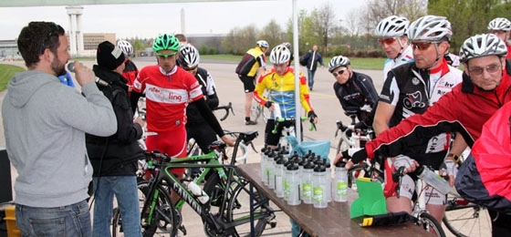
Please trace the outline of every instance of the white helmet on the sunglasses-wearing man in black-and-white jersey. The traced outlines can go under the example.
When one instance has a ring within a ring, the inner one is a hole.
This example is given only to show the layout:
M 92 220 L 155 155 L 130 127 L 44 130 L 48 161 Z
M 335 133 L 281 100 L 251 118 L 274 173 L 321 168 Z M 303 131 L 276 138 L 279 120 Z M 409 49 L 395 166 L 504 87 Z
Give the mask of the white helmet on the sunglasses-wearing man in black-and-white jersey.
M 408 28 L 410 40 L 451 41 L 453 31 L 451 23 L 445 16 L 425 15 L 412 22 Z

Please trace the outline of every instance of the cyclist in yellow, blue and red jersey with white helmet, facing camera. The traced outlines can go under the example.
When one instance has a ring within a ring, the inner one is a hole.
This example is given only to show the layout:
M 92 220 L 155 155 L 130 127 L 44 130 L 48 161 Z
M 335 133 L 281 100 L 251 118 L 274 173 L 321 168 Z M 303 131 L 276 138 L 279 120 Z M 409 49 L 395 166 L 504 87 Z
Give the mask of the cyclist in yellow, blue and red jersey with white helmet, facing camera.
M 291 52 L 286 46 L 280 45 L 272 49 L 270 61 L 274 65 L 268 73 L 257 80 L 254 90 L 255 101 L 266 106 L 270 111 L 275 110 L 274 103 L 276 103 L 280 107 L 281 114 L 277 115 L 280 118 L 299 118 L 295 103 L 295 73 L 298 73 L 300 103 L 308 113 L 308 118 L 317 122 L 318 116 L 310 104 L 307 80 L 301 72 L 296 72 L 295 68 L 288 66 L 290 58 Z M 266 89 L 269 91 L 268 98 L 263 97 Z M 271 131 L 275 127 L 275 115 L 272 115 L 266 123 L 265 143 L 270 147 L 275 147 L 285 125 L 280 125 L 276 134 L 273 134 Z

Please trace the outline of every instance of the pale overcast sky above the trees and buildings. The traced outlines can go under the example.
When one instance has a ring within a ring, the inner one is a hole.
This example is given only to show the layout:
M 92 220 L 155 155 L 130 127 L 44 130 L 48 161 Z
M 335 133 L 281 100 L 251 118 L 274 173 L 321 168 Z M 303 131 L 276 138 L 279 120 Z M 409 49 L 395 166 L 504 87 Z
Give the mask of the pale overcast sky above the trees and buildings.
M 310 13 L 329 4 L 336 20 L 360 11 L 367 0 L 297 0 L 298 9 Z M 181 25 L 184 10 L 185 26 Z M 286 28 L 293 0 L 172 3 L 141 5 L 83 5 L 82 32 L 116 33 L 117 38 L 158 36 L 161 33 L 226 34 L 235 27 L 255 24 L 259 29 L 272 19 Z M 0 7 L 0 40 L 15 39 L 30 21 L 53 21 L 69 29 L 65 6 Z

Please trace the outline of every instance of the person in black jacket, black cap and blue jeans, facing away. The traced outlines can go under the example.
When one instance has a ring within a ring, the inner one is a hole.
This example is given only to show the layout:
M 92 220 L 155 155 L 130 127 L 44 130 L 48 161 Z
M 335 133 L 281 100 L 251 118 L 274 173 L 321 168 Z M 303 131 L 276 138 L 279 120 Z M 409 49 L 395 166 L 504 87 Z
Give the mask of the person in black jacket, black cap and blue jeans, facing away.
M 87 135 L 86 144 L 94 169 L 93 236 L 109 236 L 113 196 L 117 199 L 125 236 L 141 236 L 141 213 L 137 188 L 137 160 L 144 157 L 137 140 L 143 122 L 133 121 L 127 79 L 122 77 L 125 57 L 118 46 L 105 41 L 98 46 L 98 65 L 92 69 L 108 86 L 98 85 L 110 99 L 117 118 L 117 132 L 110 137 Z M 91 115 L 94 116 L 94 115 Z M 101 125 L 98 125 L 101 126 Z

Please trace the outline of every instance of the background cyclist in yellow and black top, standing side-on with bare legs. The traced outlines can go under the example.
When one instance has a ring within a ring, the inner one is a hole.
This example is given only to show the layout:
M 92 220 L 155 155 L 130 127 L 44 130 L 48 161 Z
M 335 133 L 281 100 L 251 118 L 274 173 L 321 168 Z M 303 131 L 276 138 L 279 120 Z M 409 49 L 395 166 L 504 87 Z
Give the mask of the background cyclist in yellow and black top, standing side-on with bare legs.
M 235 70 L 245 88 L 245 125 L 257 124 L 256 121 L 250 120 L 250 108 L 254 99 L 255 77 L 263 75 L 266 70 L 268 47 L 266 40 L 257 41 L 257 46 L 246 51 L 245 57 L 241 59 Z

